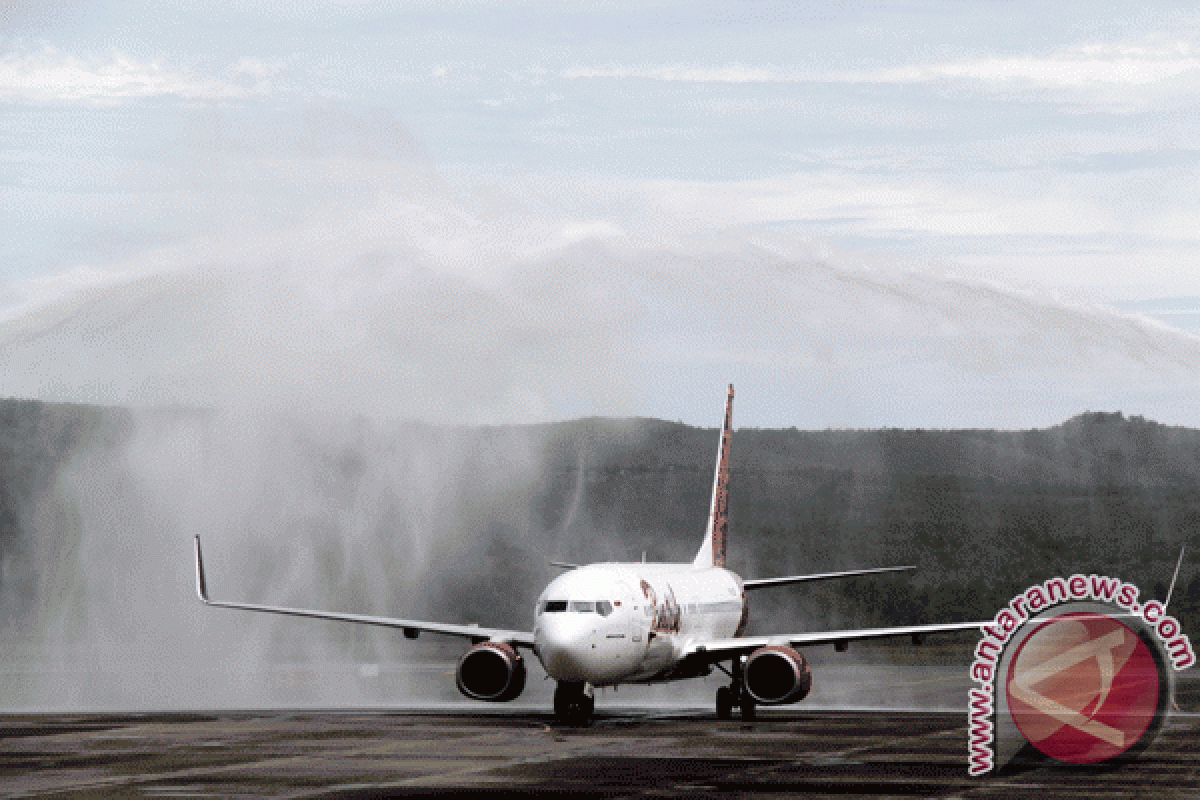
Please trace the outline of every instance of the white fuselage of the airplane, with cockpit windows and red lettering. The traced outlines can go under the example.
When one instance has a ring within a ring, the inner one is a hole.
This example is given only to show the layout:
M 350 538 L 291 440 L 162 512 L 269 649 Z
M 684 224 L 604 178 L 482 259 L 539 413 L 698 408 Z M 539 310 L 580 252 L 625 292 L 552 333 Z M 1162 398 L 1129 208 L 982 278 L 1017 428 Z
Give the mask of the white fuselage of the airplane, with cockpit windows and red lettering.
M 593 564 L 552 581 L 535 614 L 551 678 L 613 686 L 666 679 L 690 642 L 740 633 L 745 594 L 721 567 Z

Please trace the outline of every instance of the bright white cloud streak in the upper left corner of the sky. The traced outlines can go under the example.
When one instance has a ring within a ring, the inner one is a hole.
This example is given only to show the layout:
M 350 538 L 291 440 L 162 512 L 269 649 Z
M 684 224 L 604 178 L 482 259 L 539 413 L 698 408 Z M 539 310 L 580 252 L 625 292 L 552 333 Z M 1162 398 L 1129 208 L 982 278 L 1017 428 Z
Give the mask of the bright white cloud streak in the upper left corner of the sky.
M 80 59 L 50 44 L 18 44 L 0 56 L 0 103 L 118 104 L 151 97 L 232 100 L 263 94 L 280 65 L 257 59 L 235 64 L 227 79 L 206 78 L 160 61 L 139 61 L 119 52 L 107 59 Z

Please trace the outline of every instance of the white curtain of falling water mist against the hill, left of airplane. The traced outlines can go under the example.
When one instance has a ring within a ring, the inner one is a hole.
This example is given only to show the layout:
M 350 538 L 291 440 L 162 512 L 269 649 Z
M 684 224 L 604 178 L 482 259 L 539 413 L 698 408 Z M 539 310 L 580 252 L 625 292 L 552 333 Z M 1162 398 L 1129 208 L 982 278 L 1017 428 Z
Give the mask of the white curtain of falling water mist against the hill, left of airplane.
M 419 663 L 383 679 L 379 664 L 443 649 L 212 614 L 194 597 L 191 541 L 203 536 L 217 597 L 433 619 L 449 604 L 458 620 L 528 627 L 542 570 L 475 545 L 529 546 L 529 511 L 511 492 L 533 453 L 520 432 L 484 439 L 361 419 L 102 415 L 24 506 L 25 536 L 6 543 L 4 704 L 344 705 L 382 702 L 380 680 L 389 700 L 430 700 L 406 694 Z M 516 588 L 463 602 L 497 570 Z

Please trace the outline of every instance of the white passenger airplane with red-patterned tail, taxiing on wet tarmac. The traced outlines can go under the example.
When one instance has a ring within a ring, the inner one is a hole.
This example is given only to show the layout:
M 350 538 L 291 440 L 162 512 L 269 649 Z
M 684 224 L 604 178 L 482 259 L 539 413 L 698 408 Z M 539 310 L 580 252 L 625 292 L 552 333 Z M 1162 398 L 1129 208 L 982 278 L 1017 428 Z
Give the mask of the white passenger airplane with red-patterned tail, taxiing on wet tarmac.
M 749 721 L 757 705 L 797 703 L 809 694 L 812 669 L 799 648 L 832 644 L 842 651 L 850 642 L 892 637 L 910 637 L 919 644 L 929 634 L 979 630 L 980 622 L 948 622 L 744 636 L 749 591 L 916 567 L 756 579 L 743 579 L 726 569 L 732 426 L 730 385 L 712 504 L 695 559 L 690 564 L 647 564 L 644 557 L 635 563 L 556 564 L 566 572 L 538 597 L 532 631 L 215 601 L 208 594 L 198 535 L 196 590 L 202 602 L 218 608 L 377 625 L 398 628 L 409 639 L 420 633 L 467 639 L 470 648 L 458 660 L 455 681 L 458 691 L 476 700 L 503 703 L 520 696 L 527 676 L 522 650 L 532 650 L 557 681 L 556 717 L 574 726 L 590 722 L 599 687 L 700 678 L 714 667 L 730 678 L 727 686 L 716 690 L 718 718 L 731 718 L 738 709 Z

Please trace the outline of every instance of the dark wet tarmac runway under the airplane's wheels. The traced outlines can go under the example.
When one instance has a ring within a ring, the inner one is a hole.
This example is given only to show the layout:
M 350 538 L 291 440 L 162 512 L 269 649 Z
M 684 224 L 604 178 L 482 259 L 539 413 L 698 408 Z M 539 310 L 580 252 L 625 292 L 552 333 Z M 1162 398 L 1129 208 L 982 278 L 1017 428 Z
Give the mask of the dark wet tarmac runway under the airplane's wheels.
M 229 711 L 0 715 L 2 796 L 1198 798 L 1200 716 L 1135 763 L 966 771 L 966 717 L 922 711 Z

